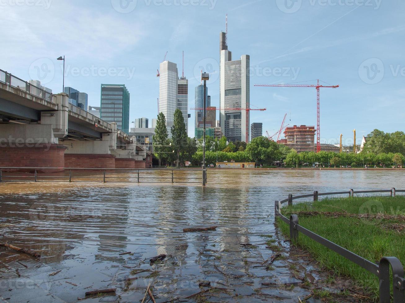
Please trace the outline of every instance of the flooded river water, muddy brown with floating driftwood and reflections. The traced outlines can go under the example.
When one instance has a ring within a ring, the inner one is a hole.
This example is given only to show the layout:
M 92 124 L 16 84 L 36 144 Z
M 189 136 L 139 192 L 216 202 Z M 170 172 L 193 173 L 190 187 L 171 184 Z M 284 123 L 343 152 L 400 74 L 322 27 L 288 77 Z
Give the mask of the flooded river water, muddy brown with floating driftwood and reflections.
M 200 176 L 199 171 L 181 174 Z M 311 293 L 300 287 L 300 276 L 311 282 L 320 276 L 316 267 L 290 255 L 274 225 L 274 200 L 313 190 L 402 189 L 404 181 L 402 171 L 209 170 L 205 188 L 2 182 L 0 242 L 42 257 L 0 248 L 0 299 L 76 302 L 86 291 L 117 288 L 113 295 L 85 301 L 140 302 L 150 284 L 156 302 L 297 302 Z M 217 229 L 183 233 L 183 228 L 207 226 Z M 282 249 L 284 258 L 272 268 L 261 266 L 274 253 L 261 235 L 272 235 Z M 168 256 L 155 264 L 144 261 L 160 254 Z M 222 289 L 188 298 L 209 288 L 200 282 Z

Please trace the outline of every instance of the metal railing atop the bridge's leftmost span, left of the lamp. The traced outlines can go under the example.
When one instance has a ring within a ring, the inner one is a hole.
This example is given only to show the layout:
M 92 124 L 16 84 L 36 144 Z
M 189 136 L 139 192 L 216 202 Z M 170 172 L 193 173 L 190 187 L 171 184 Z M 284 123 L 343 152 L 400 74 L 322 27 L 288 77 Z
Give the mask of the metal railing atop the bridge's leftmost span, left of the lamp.
M 45 89 L 30 84 L 12 74 L 0 69 L 0 82 L 14 88 L 18 88 L 29 95 L 43 99 L 47 102 L 56 103 L 56 97 Z

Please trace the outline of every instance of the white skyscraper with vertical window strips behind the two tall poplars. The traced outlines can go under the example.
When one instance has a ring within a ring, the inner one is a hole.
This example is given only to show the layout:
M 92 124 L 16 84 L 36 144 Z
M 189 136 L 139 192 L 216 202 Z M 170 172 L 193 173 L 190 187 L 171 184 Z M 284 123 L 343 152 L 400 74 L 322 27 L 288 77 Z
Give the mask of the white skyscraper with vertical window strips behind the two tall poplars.
M 159 113 L 163 113 L 166 118 L 169 138 L 172 136 L 171 127 L 173 126 L 173 115 L 177 108 L 178 78 L 176 63 L 169 61 L 160 63 Z

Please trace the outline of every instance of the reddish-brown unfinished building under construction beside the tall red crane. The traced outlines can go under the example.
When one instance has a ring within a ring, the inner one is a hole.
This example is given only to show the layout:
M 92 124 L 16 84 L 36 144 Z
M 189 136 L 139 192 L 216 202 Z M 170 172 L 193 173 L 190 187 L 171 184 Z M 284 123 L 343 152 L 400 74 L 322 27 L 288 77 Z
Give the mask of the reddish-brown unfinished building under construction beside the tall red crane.
M 314 151 L 315 132 L 315 126 L 294 125 L 293 127 L 287 127 L 284 130 L 286 139 L 281 139 L 277 143 L 294 149 L 298 154 L 304 151 Z

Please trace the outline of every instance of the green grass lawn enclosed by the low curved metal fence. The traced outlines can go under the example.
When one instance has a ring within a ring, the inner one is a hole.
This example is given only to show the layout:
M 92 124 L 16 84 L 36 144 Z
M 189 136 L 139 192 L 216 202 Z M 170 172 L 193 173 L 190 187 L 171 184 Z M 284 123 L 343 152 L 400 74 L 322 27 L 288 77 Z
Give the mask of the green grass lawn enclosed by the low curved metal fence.
M 382 257 L 397 257 L 405 265 L 403 196 L 328 198 L 288 206 L 281 213 L 288 218 L 298 215 L 301 226 L 369 261 L 378 263 Z M 290 234 L 286 223 L 280 219 L 277 223 L 283 234 Z M 303 234 L 299 234 L 296 244 L 311 252 L 322 267 L 356 280 L 374 299 L 378 297 L 379 280 L 373 274 Z

